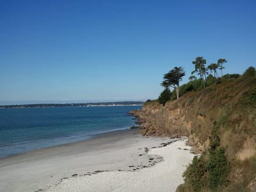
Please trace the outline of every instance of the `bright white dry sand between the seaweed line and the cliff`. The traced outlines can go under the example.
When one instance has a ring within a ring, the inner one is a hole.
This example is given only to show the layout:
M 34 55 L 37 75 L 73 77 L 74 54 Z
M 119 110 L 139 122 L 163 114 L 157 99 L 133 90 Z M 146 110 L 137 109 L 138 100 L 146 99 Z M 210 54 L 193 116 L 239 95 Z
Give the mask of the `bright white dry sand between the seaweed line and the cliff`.
M 183 183 L 182 173 L 194 155 L 179 140 L 161 148 L 153 148 L 148 154 L 162 156 L 154 166 L 138 171 L 110 171 L 63 179 L 46 192 L 82 191 L 175 191 Z

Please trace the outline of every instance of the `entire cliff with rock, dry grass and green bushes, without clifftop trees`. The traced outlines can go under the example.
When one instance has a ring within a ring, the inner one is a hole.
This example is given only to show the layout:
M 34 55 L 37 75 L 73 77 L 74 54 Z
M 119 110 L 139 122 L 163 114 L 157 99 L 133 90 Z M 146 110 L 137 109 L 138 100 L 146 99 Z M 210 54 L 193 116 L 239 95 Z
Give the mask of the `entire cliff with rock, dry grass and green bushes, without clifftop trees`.
M 256 191 L 255 68 L 223 75 L 205 88 L 193 86 L 196 81 L 202 84 L 180 86 L 179 100 L 143 106 L 141 133 L 188 135 L 193 151 L 201 153 L 177 191 Z

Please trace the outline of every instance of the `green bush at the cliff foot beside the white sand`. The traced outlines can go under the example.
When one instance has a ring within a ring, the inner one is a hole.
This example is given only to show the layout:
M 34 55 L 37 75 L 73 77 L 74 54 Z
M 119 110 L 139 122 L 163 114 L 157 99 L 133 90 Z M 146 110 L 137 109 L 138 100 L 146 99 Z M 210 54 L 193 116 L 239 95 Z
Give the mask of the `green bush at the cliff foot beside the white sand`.
M 220 122 L 222 122 L 220 120 Z M 192 164 L 183 173 L 185 185 L 180 189 L 185 191 L 218 191 L 227 185 L 230 164 L 225 149 L 220 147 L 218 128 L 220 122 L 214 122 L 210 135 L 209 149 L 198 158 L 194 157 Z M 180 190 L 182 191 L 182 190 Z

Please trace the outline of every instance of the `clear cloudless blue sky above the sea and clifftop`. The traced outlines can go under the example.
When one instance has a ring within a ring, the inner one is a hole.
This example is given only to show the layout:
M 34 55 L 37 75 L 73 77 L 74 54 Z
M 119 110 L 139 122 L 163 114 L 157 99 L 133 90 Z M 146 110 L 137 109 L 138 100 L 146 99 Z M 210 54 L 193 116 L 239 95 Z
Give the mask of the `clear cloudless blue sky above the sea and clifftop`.
M 156 99 L 196 57 L 256 65 L 256 1 L 0 1 L 0 105 Z

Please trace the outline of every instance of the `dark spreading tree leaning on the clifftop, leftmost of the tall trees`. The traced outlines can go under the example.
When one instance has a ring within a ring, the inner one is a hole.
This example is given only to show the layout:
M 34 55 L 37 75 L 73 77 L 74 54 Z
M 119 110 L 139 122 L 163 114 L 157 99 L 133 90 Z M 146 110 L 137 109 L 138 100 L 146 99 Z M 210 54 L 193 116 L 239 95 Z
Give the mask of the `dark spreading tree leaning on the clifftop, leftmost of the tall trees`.
M 164 74 L 164 81 L 161 83 L 165 88 L 172 87 L 176 90 L 177 99 L 180 95 L 180 81 L 182 81 L 183 76 L 185 76 L 185 71 L 182 67 L 174 67 L 168 73 Z

